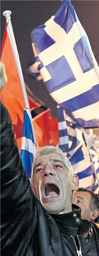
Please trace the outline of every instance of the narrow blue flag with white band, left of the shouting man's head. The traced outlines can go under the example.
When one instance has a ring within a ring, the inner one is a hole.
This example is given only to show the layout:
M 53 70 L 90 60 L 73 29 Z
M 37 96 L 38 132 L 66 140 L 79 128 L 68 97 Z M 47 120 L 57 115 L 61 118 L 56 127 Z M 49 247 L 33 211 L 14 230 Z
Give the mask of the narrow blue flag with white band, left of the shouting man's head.
M 34 156 L 36 154 L 36 147 L 34 143 L 33 130 L 30 120 L 29 109 L 24 109 L 24 123 L 22 132 L 21 144 L 21 159 L 24 170 L 31 182 L 31 170 L 33 165 Z

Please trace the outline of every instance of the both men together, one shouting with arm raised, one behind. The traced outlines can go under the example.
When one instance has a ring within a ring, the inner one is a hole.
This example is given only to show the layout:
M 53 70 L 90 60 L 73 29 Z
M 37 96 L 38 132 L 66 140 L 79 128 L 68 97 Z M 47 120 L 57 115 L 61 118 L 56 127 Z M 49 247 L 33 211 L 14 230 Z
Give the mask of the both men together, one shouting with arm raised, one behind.
M 2 63 L 0 69 L 2 89 Z M 1 255 L 98 256 L 99 196 L 78 188 L 78 176 L 62 150 L 38 149 L 31 180 L 30 187 L 1 103 Z

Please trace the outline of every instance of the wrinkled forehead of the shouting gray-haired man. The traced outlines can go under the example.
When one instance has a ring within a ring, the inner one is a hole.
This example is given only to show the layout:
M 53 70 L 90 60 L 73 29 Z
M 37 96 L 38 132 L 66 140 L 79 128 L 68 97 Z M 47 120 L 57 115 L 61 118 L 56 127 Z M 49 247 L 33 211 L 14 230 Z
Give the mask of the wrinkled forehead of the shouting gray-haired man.
M 44 155 L 44 156 L 40 156 L 38 157 L 35 161 L 34 161 L 34 166 L 39 164 L 39 163 L 49 163 L 49 162 L 60 162 L 65 166 L 64 160 L 62 158 L 61 155 L 56 154 L 56 153 L 51 153 L 49 155 Z

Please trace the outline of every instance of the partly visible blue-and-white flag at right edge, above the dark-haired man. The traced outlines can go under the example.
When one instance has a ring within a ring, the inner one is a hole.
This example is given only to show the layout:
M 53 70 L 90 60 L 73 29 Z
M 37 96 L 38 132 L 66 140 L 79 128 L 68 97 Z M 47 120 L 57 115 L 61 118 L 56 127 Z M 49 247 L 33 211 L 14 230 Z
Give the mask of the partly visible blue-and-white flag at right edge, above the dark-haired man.
M 99 181 L 99 154 L 97 153 L 94 145 L 91 146 L 90 148 L 90 153 L 92 155 L 92 160 L 93 160 L 93 163 L 94 163 L 94 169 L 96 170 L 96 173 L 97 173 L 97 179 Z M 98 186 L 98 182 L 97 182 L 97 179 L 95 178 L 95 182 L 94 182 L 94 186 L 92 188 L 92 190 L 95 192 L 95 193 L 99 193 L 99 186 Z

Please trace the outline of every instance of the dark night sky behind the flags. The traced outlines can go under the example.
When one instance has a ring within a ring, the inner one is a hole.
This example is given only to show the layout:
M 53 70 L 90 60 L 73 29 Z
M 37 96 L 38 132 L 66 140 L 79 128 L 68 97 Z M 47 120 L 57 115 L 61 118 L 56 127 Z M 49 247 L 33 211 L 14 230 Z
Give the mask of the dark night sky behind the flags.
M 78 18 L 84 27 L 91 43 L 92 50 L 99 65 L 99 1 L 71 1 Z M 5 17 L 2 12 L 12 12 L 11 22 L 21 61 L 24 80 L 35 96 L 51 107 L 56 117 L 56 107 L 43 82 L 29 79 L 26 71 L 27 62 L 32 54 L 30 32 L 55 14 L 60 1 L 3 1 L 1 0 L 1 43 L 5 30 Z

